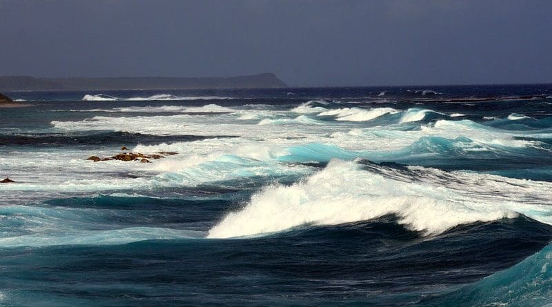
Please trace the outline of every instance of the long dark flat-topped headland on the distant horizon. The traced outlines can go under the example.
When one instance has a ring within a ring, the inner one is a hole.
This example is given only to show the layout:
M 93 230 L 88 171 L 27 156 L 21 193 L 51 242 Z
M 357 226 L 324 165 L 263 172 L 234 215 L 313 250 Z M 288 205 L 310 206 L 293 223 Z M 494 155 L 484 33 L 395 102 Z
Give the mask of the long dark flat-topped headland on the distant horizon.
M 240 77 L 115 77 L 115 78 L 34 78 L 0 77 L 0 90 L 164 90 L 208 88 L 284 88 L 272 73 Z

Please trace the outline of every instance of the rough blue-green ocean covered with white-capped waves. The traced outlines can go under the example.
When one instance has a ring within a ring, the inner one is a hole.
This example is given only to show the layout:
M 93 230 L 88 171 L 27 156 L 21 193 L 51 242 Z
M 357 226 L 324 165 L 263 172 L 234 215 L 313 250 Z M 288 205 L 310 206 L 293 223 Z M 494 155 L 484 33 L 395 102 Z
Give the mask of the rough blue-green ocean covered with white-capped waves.
M 552 304 L 552 85 L 6 94 L 0 306 Z

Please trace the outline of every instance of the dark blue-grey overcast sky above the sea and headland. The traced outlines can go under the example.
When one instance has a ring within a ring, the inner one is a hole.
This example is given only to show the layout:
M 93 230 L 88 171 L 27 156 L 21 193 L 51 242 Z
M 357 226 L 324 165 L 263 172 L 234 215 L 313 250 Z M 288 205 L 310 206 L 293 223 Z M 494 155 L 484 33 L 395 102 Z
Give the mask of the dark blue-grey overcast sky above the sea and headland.
M 0 75 L 552 83 L 552 1 L 0 0 Z

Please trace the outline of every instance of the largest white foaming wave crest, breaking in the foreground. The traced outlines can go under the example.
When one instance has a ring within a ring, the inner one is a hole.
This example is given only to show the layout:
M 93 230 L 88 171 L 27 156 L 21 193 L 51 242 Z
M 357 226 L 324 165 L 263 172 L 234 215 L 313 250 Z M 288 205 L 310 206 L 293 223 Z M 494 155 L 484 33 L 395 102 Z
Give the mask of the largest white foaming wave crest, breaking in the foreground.
M 475 203 L 475 204 L 474 204 Z M 292 186 L 269 186 L 209 230 L 209 238 L 244 237 L 309 224 L 337 225 L 395 214 L 400 224 L 434 235 L 475 221 L 517 217 L 509 208 L 477 204 L 453 189 L 390 179 L 355 162 L 331 161 Z

